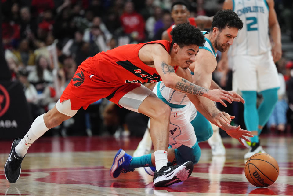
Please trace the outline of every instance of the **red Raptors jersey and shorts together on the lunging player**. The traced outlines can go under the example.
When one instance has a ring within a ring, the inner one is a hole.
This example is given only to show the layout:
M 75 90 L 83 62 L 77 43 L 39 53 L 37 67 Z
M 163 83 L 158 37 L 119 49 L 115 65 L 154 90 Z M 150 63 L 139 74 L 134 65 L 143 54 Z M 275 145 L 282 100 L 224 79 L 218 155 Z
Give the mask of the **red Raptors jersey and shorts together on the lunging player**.
M 149 43 L 160 43 L 170 52 L 171 42 L 166 40 L 128 44 L 101 52 L 78 66 L 75 75 L 60 97 L 70 99 L 71 109 L 86 109 L 89 104 L 107 98 L 117 105 L 121 97 L 144 82 L 158 82 L 156 69 L 144 64 L 138 57 L 139 49 Z M 177 71 L 178 66 L 174 67 Z

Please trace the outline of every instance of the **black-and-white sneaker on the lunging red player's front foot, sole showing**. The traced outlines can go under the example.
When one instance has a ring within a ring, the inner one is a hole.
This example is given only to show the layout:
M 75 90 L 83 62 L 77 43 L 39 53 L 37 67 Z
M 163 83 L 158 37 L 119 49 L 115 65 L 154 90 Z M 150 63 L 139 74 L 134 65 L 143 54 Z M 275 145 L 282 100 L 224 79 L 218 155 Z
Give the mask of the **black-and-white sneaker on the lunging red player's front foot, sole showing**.
M 154 173 L 154 185 L 156 187 L 167 187 L 174 183 L 186 180 L 193 171 L 193 163 L 191 161 L 180 165 L 164 166 Z

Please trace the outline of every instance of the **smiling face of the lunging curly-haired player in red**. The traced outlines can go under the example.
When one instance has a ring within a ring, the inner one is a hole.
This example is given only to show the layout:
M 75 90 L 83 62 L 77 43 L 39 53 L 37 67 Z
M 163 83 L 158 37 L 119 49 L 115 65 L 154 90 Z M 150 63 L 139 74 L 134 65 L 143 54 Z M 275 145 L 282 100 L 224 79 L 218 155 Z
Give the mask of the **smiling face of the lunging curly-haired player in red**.
M 195 57 L 198 53 L 198 50 L 199 47 L 197 45 L 183 46 L 181 48 L 179 47 L 179 50 L 177 52 L 178 65 L 183 69 L 187 69 L 190 66 L 190 64 L 195 61 Z

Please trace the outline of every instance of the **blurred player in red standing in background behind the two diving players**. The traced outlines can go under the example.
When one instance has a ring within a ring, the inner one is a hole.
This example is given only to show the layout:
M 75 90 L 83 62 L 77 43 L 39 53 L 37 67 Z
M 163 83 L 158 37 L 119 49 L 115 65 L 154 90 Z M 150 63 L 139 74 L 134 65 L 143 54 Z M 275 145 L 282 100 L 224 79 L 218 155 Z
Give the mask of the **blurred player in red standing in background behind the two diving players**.
M 170 32 L 177 24 L 190 23 L 191 25 L 204 30 L 205 28 L 210 28 L 212 26 L 213 16 L 197 16 L 195 18 L 189 18 L 189 6 L 184 1 L 175 1 L 171 6 L 171 16 L 174 20 L 174 23 L 162 34 L 162 39 L 172 41 L 172 36 Z

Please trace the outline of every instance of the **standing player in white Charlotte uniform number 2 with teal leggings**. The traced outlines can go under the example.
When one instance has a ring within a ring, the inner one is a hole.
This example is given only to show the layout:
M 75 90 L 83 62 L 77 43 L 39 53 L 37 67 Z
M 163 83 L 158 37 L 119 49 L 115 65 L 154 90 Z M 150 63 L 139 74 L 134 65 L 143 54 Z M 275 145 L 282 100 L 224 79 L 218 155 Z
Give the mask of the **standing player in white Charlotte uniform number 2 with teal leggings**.
M 245 100 L 244 122 L 247 130 L 254 135 L 249 152 L 244 156 L 247 159 L 255 153 L 264 152 L 259 144 L 259 134 L 278 100 L 280 85 L 274 62 L 282 55 L 281 31 L 273 0 L 226 0 L 223 9 L 233 9 L 244 23 L 228 56 L 229 64 L 233 66 L 233 90 L 242 92 Z M 222 58 L 223 62 L 228 62 L 227 54 L 223 54 Z M 258 108 L 257 93 L 263 97 Z

